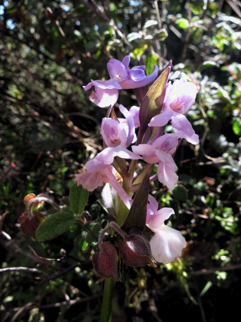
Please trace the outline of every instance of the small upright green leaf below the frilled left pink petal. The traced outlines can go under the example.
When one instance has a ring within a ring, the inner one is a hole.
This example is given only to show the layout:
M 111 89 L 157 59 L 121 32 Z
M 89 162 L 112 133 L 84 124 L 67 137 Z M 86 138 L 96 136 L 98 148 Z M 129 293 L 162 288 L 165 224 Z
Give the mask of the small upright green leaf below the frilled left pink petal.
M 86 202 L 88 200 L 89 192 L 85 190 L 82 185 L 77 186 L 77 183 L 74 183 L 70 187 L 70 209 L 74 214 L 81 216 Z

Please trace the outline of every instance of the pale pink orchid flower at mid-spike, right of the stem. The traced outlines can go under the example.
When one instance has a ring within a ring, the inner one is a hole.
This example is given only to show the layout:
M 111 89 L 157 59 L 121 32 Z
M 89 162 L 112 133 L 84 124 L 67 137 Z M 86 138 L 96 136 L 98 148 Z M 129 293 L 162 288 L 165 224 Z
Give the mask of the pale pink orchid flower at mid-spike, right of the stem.
M 147 163 L 158 163 L 157 177 L 167 188 L 173 190 L 178 181 L 175 173 L 178 169 L 172 155 L 176 151 L 178 136 L 167 134 L 157 138 L 149 144 L 139 144 L 132 146 L 135 154 L 140 154 Z

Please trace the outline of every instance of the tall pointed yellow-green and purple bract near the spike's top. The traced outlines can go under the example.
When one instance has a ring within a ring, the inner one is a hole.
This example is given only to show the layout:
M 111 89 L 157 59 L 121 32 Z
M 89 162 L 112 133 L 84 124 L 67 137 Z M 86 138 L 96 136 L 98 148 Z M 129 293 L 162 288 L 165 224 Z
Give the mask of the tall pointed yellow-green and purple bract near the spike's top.
M 148 123 L 150 122 L 150 120 L 161 112 L 165 99 L 167 80 L 171 68 L 170 64 L 171 61 L 169 62 L 168 67 L 150 87 L 146 96 L 144 97 L 144 100 L 141 103 L 139 119 L 141 124 L 140 132 L 142 135 L 144 135 L 144 133 L 148 129 Z M 142 137 L 142 135 L 140 137 Z

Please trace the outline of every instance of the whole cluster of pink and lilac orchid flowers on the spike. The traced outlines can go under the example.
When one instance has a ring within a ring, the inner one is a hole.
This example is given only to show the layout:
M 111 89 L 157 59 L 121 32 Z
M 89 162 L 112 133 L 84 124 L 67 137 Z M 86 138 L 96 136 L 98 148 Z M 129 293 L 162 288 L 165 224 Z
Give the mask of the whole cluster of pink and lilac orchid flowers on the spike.
M 91 80 L 87 86 L 84 86 L 85 90 L 94 86 L 90 100 L 100 107 L 109 107 L 109 109 L 107 117 L 103 118 L 101 123 L 104 149 L 86 163 L 87 171 L 80 173 L 75 179 L 78 185 L 81 184 L 89 191 L 93 191 L 104 183 L 106 186 L 111 186 L 128 209 L 132 204 L 133 193 L 140 186 L 144 175 L 150 173 L 156 163 L 158 164 L 157 174 L 150 177 L 150 181 L 158 179 L 167 185 L 168 189 L 173 190 L 178 180 L 176 174 L 178 168 L 173 156 L 180 141 L 185 139 L 192 144 L 199 143 L 198 135 L 195 134 L 184 115 L 195 101 L 196 85 L 187 81 L 186 76 L 175 80 L 173 84 L 167 83 L 170 66 L 162 73 L 162 75 L 166 73 L 166 79 L 164 76 L 160 76 L 162 83 L 166 81 L 162 98 L 150 97 L 151 88 L 145 93 L 148 96 L 148 101 L 152 101 L 152 103 L 153 100 L 156 101 L 157 109 L 159 108 L 157 113 L 155 112 L 152 116 L 151 113 L 143 111 L 144 108 L 149 108 L 146 103 L 142 104 L 145 101 L 144 98 L 139 100 L 140 107 L 132 106 L 130 110 L 119 104 L 118 108 L 124 118 L 116 117 L 112 107 L 118 99 L 118 90 L 144 89 L 147 87 L 146 85 L 156 79 L 158 74 L 156 65 L 153 67 L 153 72 L 146 76 L 144 65 L 129 70 L 129 63 L 130 56 L 126 56 L 122 62 L 111 59 L 107 63 L 111 79 Z M 142 120 L 144 119 L 143 115 L 147 114 L 151 115 L 151 118 L 145 127 Z M 171 121 L 174 133 L 164 134 L 168 121 Z M 140 129 L 138 136 L 136 136 L 135 129 L 138 127 Z M 133 143 L 136 145 L 131 145 Z M 130 146 L 132 151 L 128 149 Z M 124 159 L 131 160 L 129 168 L 129 163 Z M 141 169 L 140 166 L 136 169 L 137 160 L 143 160 L 147 164 L 143 165 Z M 109 198 L 110 202 L 112 197 L 105 196 L 104 198 Z M 150 247 L 157 262 L 173 261 L 181 255 L 182 249 L 186 245 L 182 234 L 164 223 L 173 213 L 172 208 L 158 210 L 157 201 L 148 195 L 146 225 L 155 233 L 150 241 Z

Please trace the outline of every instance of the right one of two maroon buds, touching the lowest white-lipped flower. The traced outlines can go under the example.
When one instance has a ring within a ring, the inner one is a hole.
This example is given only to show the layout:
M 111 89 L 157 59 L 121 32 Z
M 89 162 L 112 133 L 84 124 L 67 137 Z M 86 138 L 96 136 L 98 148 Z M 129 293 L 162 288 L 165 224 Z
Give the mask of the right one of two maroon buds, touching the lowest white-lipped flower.
M 132 267 L 146 264 L 156 267 L 149 241 L 137 228 L 131 228 L 125 240 L 120 241 L 119 252 L 124 261 Z

